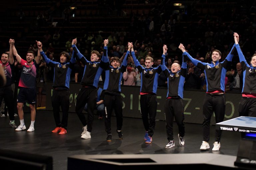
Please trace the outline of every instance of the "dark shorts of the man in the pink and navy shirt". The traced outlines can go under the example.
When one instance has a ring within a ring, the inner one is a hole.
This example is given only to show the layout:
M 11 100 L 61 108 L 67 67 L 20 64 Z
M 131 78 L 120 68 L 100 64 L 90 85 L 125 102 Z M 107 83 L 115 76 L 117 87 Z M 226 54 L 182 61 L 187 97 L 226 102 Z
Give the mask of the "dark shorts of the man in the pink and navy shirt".
M 26 101 L 31 105 L 36 104 L 36 89 L 20 87 L 17 103 L 25 103 Z

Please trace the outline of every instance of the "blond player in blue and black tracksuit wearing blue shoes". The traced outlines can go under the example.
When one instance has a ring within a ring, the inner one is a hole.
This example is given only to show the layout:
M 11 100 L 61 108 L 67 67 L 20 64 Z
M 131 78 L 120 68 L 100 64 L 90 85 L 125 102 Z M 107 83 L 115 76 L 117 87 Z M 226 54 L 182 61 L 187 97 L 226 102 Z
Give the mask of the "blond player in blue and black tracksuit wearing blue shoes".
M 142 67 L 142 65 L 140 65 L 139 61 L 135 56 L 133 48 L 131 48 L 131 51 L 135 66 L 140 72 L 140 112 L 143 125 L 146 130 L 144 140 L 146 140 L 145 143 L 151 143 L 156 124 L 155 118 L 157 109 L 157 80 L 159 74 L 162 72 L 162 69 L 160 65 L 155 68 L 152 67 L 152 65 L 154 64 L 154 60 L 150 56 L 146 56 L 145 58 L 146 68 Z

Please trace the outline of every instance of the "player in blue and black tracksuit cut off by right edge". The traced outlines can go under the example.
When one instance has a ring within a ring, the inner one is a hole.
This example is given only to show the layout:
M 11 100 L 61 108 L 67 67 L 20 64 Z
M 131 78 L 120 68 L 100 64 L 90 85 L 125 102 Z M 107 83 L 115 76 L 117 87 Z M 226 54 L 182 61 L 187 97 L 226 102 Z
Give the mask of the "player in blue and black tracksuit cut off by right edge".
M 256 54 L 251 58 L 251 65 L 249 65 L 238 44 L 239 37 L 236 42 L 236 49 L 238 52 L 239 60 L 242 66 L 243 73 L 243 89 L 242 99 L 239 103 L 239 116 L 256 117 Z

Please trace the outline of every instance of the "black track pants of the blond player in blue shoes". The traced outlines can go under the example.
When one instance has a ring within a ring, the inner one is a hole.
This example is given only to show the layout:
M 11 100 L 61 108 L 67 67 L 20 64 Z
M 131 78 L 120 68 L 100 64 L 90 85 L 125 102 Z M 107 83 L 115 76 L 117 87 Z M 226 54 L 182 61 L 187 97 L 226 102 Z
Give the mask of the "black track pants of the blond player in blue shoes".
M 153 136 L 155 130 L 155 118 L 156 118 L 156 95 L 146 94 L 140 96 L 140 112 L 143 121 L 143 125 L 148 135 Z M 149 115 L 149 122 L 148 122 Z

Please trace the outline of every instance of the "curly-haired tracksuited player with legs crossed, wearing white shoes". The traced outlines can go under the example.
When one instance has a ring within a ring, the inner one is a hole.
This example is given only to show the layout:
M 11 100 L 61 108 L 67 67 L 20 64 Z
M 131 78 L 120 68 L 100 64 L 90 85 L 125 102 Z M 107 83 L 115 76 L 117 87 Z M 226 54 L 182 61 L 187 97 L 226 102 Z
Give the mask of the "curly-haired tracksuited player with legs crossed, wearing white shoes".
M 76 40 L 75 40 L 76 42 Z M 97 99 L 97 87 L 100 75 L 103 71 L 103 68 L 106 67 L 108 63 L 108 58 L 103 56 L 100 62 L 97 60 L 100 58 L 98 51 L 91 51 L 91 61 L 88 61 L 77 49 L 76 45 L 73 44 L 72 48 L 74 49 L 79 60 L 84 64 L 84 75 L 81 81 L 82 88 L 80 89 L 77 98 L 76 98 L 76 113 L 83 124 L 83 132 L 81 138 L 88 139 L 91 138 L 92 131 L 92 122 L 93 122 L 93 111 L 96 105 Z M 88 122 L 83 114 L 83 109 L 87 103 L 88 111 Z

